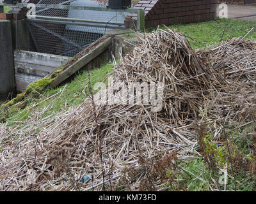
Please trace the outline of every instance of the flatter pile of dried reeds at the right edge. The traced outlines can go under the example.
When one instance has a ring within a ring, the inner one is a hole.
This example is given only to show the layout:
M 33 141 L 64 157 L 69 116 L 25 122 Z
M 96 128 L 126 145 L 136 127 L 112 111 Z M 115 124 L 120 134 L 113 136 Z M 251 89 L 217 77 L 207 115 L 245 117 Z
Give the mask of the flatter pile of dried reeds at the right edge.
M 205 106 L 207 119 L 214 124 L 244 126 L 248 122 L 244 113 L 256 102 L 256 42 L 233 38 L 197 54 L 218 73 L 221 84 L 211 91 Z

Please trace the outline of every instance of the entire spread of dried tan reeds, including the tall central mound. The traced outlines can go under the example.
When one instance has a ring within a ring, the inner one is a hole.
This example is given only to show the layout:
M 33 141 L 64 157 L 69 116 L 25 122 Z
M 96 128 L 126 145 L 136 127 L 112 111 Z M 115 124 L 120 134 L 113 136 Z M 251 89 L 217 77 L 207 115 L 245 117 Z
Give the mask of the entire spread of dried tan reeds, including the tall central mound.
M 126 166 L 138 166 L 140 156 L 193 152 L 196 123 L 209 123 L 216 134 L 223 121 L 248 124 L 239 113 L 255 99 L 255 48 L 253 41 L 233 39 L 195 52 L 175 31 L 145 34 L 111 75 L 114 84 L 163 83 L 163 108 L 153 112 L 150 103 L 98 103 L 104 99 L 99 91 L 56 117 L 0 126 L 0 190 L 111 188 L 122 181 Z M 243 100 L 247 105 L 241 105 Z M 90 182 L 81 182 L 84 175 L 92 176 Z

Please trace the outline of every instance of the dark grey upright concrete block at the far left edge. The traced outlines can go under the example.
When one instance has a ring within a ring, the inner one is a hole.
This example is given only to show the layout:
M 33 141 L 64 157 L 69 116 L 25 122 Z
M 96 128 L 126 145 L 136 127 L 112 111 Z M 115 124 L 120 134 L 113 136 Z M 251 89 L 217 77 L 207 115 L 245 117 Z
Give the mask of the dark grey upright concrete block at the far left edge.
M 12 26 L 10 20 L 0 20 L 0 97 L 15 92 L 12 48 Z

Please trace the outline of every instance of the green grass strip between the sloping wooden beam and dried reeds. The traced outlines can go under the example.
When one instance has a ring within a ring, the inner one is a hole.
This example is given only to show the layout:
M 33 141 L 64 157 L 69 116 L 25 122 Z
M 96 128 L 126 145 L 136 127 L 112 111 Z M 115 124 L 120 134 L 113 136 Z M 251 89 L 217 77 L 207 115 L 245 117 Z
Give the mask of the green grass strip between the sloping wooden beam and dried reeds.
M 112 64 L 106 64 L 99 69 L 92 69 L 92 71 L 90 71 L 92 87 L 95 83 L 102 82 L 112 69 Z M 88 82 L 88 71 L 78 71 L 74 79 L 67 84 L 62 84 L 55 89 L 47 90 L 38 99 L 27 99 L 25 109 L 20 110 L 15 107 L 11 108 L 10 115 L 6 120 L 7 124 L 12 126 L 13 124 L 17 124 L 17 121 L 24 122 L 33 117 L 36 112 L 40 112 L 40 119 L 42 119 L 82 103 L 87 97 L 86 92 L 88 93 Z M 54 97 L 47 99 L 51 96 Z M 45 99 L 47 100 L 44 101 Z

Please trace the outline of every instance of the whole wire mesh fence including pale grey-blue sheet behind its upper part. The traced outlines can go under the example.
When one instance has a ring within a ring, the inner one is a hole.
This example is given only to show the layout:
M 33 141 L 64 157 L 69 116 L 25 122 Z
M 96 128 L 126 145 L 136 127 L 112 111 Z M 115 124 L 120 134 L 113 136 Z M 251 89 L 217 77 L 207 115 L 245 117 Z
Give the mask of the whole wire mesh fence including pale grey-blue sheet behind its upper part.
M 37 4 L 106 7 L 107 0 L 40 0 Z M 37 52 L 72 57 L 109 29 L 124 27 L 127 12 L 36 8 L 28 19 Z

